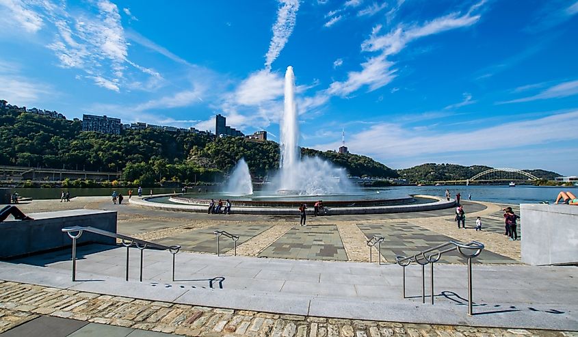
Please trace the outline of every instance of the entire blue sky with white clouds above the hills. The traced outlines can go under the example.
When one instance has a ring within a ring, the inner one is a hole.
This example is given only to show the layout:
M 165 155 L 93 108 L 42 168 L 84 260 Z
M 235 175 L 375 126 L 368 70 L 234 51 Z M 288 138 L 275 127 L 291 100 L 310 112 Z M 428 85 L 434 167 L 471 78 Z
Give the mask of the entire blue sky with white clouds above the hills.
M 578 1 L 0 0 L 0 98 L 300 145 L 578 175 Z

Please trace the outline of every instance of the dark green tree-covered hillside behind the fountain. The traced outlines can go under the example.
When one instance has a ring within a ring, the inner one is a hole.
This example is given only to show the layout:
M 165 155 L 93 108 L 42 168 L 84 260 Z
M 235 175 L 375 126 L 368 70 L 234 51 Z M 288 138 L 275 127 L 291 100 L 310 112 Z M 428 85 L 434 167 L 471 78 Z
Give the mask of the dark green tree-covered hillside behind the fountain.
M 354 176 L 397 176 L 386 165 L 356 154 L 302 148 L 302 155 L 332 161 Z M 0 109 L 0 165 L 122 172 L 126 182 L 153 186 L 167 180 L 219 182 L 241 158 L 253 177 L 263 177 L 277 170 L 279 157 L 274 141 L 155 129 L 109 135 L 81 131 L 79 120 Z

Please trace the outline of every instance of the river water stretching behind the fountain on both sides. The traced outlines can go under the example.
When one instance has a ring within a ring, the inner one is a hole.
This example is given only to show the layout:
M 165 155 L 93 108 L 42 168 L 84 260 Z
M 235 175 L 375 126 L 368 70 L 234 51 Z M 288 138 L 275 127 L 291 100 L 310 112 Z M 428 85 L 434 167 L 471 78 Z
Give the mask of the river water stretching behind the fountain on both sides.
M 218 191 L 221 187 L 200 187 L 203 195 L 207 195 L 206 191 Z M 571 191 L 578 196 L 578 187 L 535 187 L 522 186 L 516 187 L 508 186 L 397 186 L 397 187 L 383 187 L 365 189 L 366 193 L 380 193 L 380 198 L 401 198 L 410 194 L 426 194 L 430 196 L 445 196 L 445 190 L 449 189 L 451 198 L 456 197 L 456 193 L 460 193 L 462 200 L 468 199 L 468 194 L 471 194 L 472 200 L 497 202 L 500 204 L 536 204 L 542 201 L 549 201 L 553 203 L 560 191 Z M 110 196 L 112 191 L 122 193 L 124 196 L 128 195 L 129 188 L 90 188 L 90 189 L 58 189 L 58 188 L 18 188 L 17 191 L 23 197 L 34 199 L 60 199 L 61 191 L 70 191 L 70 196 Z M 132 188 L 133 195 L 136 195 L 136 188 Z M 172 193 L 180 192 L 180 189 L 157 187 L 153 188 L 153 193 Z M 187 192 L 198 193 L 198 187 L 188 189 Z M 143 189 L 145 196 L 150 194 L 150 188 Z

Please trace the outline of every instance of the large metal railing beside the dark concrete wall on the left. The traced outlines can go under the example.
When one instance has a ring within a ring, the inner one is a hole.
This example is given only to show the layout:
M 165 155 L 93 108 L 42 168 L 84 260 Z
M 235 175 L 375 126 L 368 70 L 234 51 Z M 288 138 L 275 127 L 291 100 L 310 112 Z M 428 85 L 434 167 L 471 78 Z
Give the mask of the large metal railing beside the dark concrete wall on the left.
M 180 245 L 172 245 L 172 246 L 159 245 L 158 243 L 144 241 L 141 239 L 129 237 L 127 235 L 109 232 L 108 230 L 101 230 L 99 228 L 94 228 L 90 226 L 66 227 L 62 228 L 62 232 L 65 232 L 66 234 L 68 234 L 68 237 L 70 237 L 70 239 L 73 239 L 73 282 L 76 281 L 76 240 L 79 239 L 79 237 L 81 237 L 83 232 L 91 232 L 94 234 L 103 235 L 105 237 L 120 239 L 122 245 L 124 245 L 124 247 L 127 247 L 127 275 L 126 275 L 127 281 L 129 280 L 129 252 L 130 252 L 129 248 L 132 245 L 135 245 L 135 247 L 137 247 L 138 250 L 140 250 L 140 282 L 142 282 L 142 262 L 143 262 L 143 251 L 145 250 L 145 248 L 168 250 L 170 254 L 172 254 L 172 281 L 174 282 L 174 256 L 176 255 L 176 253 L 179 252 L 179 250 L 181 250 Z M 74 234 L 75 232 L 77 234 Z

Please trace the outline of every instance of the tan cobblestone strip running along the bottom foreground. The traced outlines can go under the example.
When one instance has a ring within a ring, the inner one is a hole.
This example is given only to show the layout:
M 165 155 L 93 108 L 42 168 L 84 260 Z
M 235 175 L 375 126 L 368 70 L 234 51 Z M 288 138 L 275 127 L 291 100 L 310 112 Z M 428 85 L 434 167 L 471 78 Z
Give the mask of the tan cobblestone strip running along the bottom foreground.
M 183 336 L 578 336 L 577 332 L 326 319 L 207 308 L 0 281 L 0 332 L 39 315 Z

